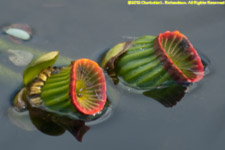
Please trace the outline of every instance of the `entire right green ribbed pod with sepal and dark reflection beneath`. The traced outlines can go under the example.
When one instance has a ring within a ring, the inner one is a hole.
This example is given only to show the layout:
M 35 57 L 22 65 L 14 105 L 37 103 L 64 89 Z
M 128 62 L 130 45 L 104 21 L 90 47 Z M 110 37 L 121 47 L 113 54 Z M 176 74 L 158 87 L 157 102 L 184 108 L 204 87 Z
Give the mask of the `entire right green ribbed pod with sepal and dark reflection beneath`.
M 161 103 L 168 100 L 165 106 L 176 104 L 187 86 L 204 76 L 201 58 L 179 31 L 119 43 L 106 53 L 101 66 L 113 80 Z

